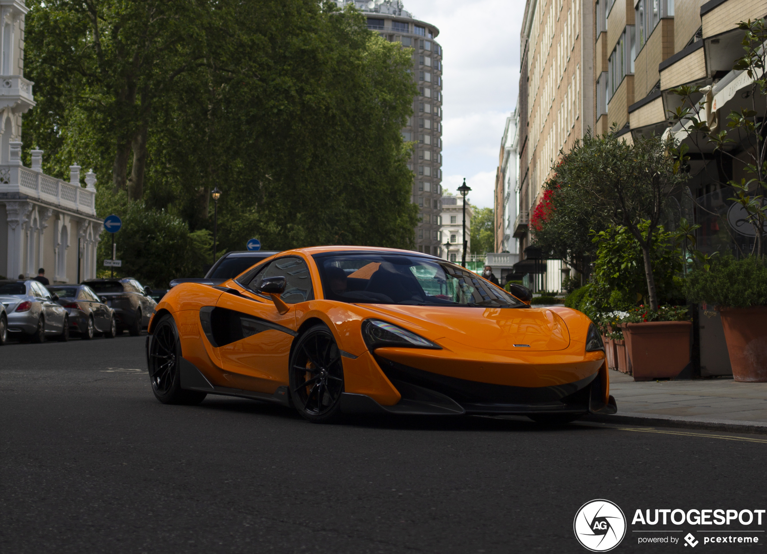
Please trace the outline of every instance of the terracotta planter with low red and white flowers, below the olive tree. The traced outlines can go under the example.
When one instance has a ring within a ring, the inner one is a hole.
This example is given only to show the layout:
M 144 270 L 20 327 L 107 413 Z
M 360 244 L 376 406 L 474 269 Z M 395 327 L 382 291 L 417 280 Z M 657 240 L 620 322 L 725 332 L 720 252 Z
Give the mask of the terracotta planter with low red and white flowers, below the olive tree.
M 692 322 L 686 306 L 633 308 L 618 327 L 624 331 L 634 381 L 673 379 L 690 363 Z

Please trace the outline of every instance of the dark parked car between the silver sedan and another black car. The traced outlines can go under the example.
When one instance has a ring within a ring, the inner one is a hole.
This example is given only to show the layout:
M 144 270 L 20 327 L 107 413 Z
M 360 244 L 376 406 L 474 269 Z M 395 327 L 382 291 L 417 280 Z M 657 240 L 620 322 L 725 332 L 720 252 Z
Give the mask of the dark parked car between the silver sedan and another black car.
M 58 302 L 69 312 L 69 331 L 90 340 L 96 333 L 107 338 L 117 335 L 117 318 L 114 310 L 101 302 L 98 295 L 87 285 L 48 285 L 48 291 L 57 295 Z

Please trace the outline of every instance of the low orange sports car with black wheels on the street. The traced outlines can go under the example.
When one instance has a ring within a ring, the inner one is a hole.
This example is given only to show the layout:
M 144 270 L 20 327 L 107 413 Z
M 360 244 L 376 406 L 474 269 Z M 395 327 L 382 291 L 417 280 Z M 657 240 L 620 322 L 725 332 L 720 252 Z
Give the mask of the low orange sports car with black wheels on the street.
M 272 256 L 219 286 L 183 283 L 146 340 L 166 404 L 226 394 L 343 414 L 614 413 L 597 328 L 531 308 L 459 265 L 407 250 L 318 246 Z

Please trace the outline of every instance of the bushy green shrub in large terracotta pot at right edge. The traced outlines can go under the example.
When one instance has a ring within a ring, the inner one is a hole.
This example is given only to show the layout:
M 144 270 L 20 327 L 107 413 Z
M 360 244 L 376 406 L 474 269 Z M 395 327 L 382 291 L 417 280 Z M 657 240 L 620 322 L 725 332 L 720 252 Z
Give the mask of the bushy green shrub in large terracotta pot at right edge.
M 699 264 L 687 276 L 687 298 L 711 305 L 722 327 L 735 381 L 767 382 L 767 261 L 731 253 Z

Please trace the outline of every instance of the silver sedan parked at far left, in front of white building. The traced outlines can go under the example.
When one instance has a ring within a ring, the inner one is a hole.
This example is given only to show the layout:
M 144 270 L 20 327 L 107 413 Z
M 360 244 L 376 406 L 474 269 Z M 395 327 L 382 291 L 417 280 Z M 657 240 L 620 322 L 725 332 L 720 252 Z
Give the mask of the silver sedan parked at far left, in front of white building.
M 48 337 L 69 339 L 67 310 L 55 301 L 41 283 L 0 281 L 0 302 L 8 314 L 8 335 L 21 340 L 43 342 Z

